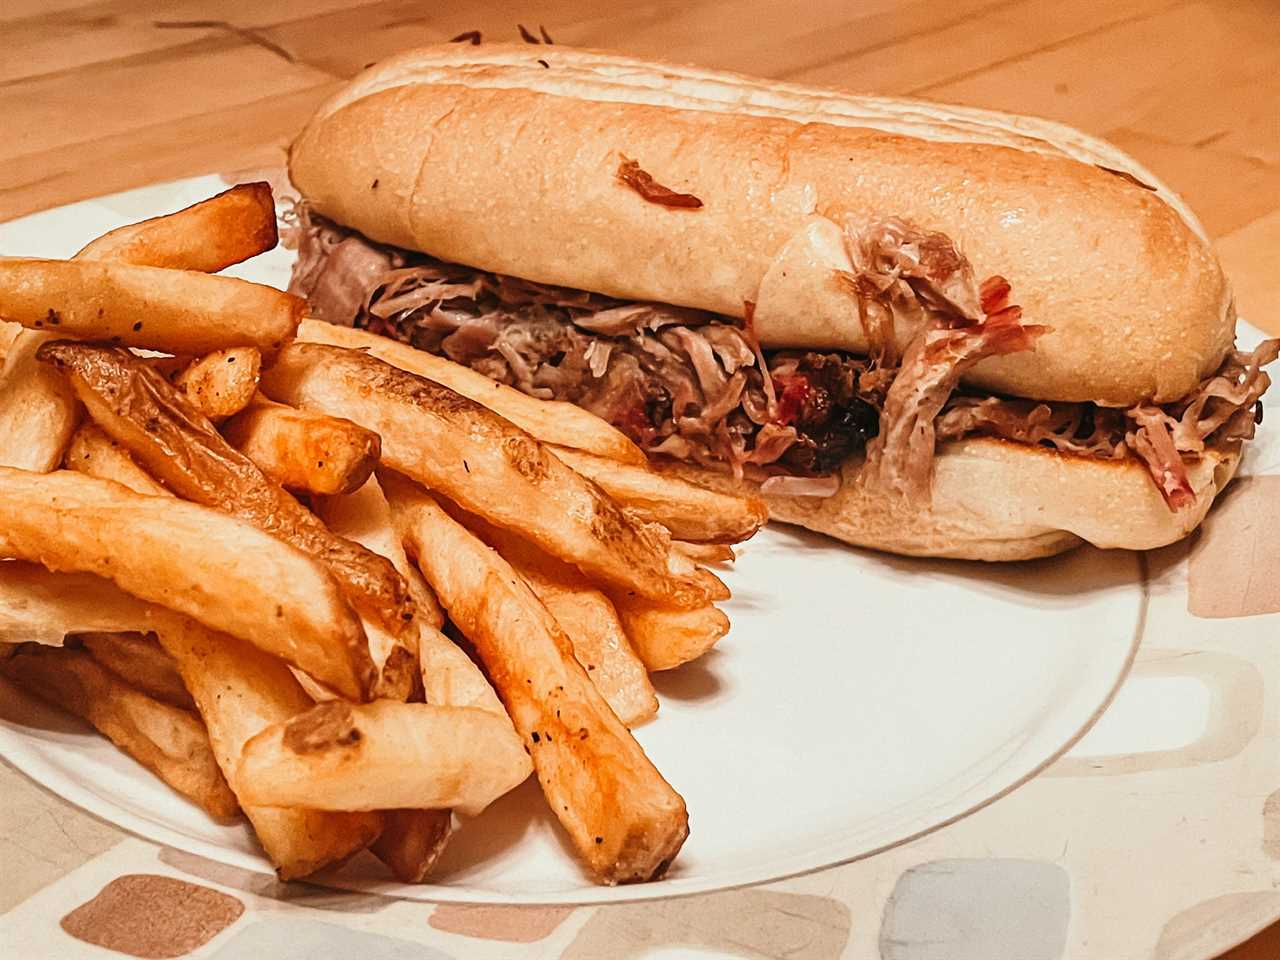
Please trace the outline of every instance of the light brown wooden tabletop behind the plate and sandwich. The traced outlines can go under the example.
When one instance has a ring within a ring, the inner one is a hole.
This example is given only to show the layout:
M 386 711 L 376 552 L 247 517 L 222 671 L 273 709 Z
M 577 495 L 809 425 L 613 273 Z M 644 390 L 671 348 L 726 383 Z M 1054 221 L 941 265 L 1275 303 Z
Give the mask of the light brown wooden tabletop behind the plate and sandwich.
M 1240 314 L 1280 330 L 1275 0 L 4 0 L 0 220 L 145 183 L 278 164 L 364 65 L 468 29 L 859 92 L 1039 114 L 1179 191 Z M 1280 956 L 1280 927 L 1228 954 Z

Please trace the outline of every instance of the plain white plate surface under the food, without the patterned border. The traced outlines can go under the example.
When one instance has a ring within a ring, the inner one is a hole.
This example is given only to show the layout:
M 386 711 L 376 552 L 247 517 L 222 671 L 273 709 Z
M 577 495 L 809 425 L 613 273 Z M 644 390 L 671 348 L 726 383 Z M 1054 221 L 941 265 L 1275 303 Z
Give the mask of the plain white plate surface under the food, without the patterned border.
M 212 177 L 0 224 L 0 253 L 67 256 L 105 229 L 223 188 Z M 289 255 L 238 268 L 287 280 Z M 636 732 L 689 804 L 671 874 L 595 887 L 535 783 L 463 824 L 436 882 L 389 883 L 371 858 L 324 877 L 419 900 L 639 900 L 758 883 L 901 844 L 1012 790 L 1073 744 L 1124 677 L 1146 611 L 1139 558 L 1078 550 L 1016 566 L 878 557 L 778 527 L 726 572 L 732 632 L 658 675 Z M 78 723 L 0 687 L 0 755 L 141 836 L 269 870 L 247 827 L 219 826 Z

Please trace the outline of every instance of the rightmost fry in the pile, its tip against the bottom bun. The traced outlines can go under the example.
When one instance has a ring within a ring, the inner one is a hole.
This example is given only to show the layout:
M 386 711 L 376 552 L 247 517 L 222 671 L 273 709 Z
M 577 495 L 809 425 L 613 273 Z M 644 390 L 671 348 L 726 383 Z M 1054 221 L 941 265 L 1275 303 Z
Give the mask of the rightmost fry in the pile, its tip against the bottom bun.
M 663 476 L 648 466 L 618 463 L 563 447 L 553 453 L 646 522 L 662 524 L 677 540 L 741 543 L 755 536 L 769 520 L 759 497 L 731 497 Z

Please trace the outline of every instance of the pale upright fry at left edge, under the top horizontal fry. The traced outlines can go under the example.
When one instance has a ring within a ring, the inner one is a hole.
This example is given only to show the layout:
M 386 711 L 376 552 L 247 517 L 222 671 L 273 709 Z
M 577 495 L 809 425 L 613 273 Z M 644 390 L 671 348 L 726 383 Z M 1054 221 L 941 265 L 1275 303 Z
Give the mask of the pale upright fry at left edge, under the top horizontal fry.
M 3 294 L 0 294 L 3 296 Z M 79 402 L 56 370 L 36 360 L 47 338 L 22 330 L 0 371 L 0 466 L 46 474 L 63 462 L 79 420 Z

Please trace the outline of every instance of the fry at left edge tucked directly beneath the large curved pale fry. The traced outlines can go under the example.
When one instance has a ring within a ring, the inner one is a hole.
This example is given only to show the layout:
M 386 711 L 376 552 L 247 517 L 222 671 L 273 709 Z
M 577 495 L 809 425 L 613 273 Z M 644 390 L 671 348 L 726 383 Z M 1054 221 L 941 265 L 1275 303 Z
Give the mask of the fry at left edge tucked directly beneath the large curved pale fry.
M 147 628 L 146 604 L 92 573 L 0 561 L 0 641 L 60 646 L 70 634 Z

